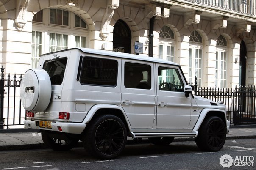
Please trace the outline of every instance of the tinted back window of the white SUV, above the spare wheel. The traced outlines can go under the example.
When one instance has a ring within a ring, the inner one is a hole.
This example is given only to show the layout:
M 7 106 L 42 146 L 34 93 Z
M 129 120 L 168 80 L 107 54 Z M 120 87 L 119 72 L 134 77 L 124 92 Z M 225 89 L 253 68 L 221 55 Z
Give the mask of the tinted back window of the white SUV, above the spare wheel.
M 56 58 L 45 61 L 43 69 L 49 74 L 52 85 L 61 85 L 66 65 L 67 58 Z

